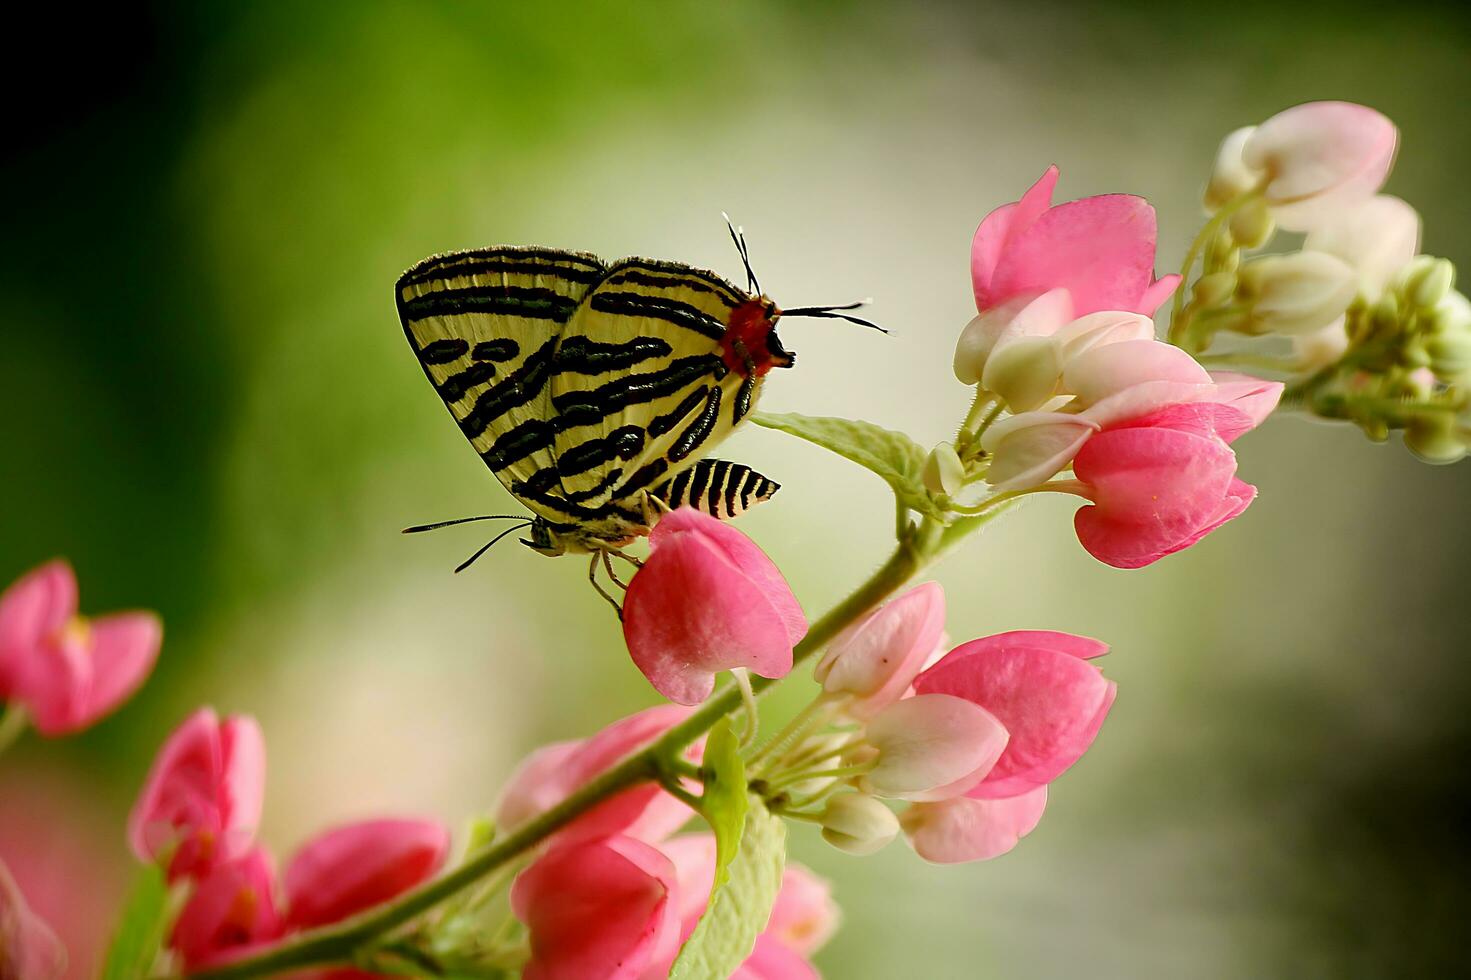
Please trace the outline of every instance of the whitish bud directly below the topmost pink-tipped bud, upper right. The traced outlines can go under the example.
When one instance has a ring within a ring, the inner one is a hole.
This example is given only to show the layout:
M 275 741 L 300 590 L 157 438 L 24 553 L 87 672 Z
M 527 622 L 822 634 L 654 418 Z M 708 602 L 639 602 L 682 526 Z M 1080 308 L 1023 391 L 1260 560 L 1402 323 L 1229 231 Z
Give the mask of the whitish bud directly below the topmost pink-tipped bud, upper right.
M 1375 194 L 1325 215 L 1302 247 L 1347 262 L 1359 294 L 1374 302 L 1420 252 L 1420 213 L 1399 197 Z

